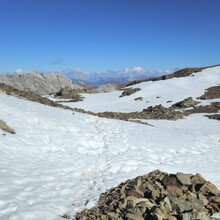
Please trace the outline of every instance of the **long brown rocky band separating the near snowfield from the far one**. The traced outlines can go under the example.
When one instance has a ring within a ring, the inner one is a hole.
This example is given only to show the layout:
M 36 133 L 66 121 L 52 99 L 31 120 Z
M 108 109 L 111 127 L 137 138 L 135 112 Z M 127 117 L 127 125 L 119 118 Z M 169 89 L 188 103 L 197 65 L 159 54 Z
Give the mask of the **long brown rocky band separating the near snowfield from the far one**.
M 91 111 L 86 111 L 80 108 L 72 108 L 59 102 L 55 102 L 44 98 L 34 92 L 30 91 L 23 91 L 19 89 L 15 89 L 11 86 L 5 85 L 0 83 L 0 91 L 7 93 L 8 95 L 13 95 L 22 99 L 39 102 L 45 105 L 69 109 L 76 112 L 86 113 L 98 117 L 109 118 L 109 119 L 118 119 L 123 121 L 132 121 L 136 123 L 143 123 L 141 120 L 147 119 L 166 119 L 166 120 L 177 120 L 182 119 L 187 115 L 195 114 L 195 113 L 217 113 L 220 109 L 219 102 L 213 102 L 210 105 L 197 105 L 199 102 L 194 101 L 191 97 L 182 100 L 181 102 L 173 104 L 170 108 L 166 108 L 162 105 L 157 106 L 150 106 L 147 109 L 143 109 L 140 112 L 130 112 L 130 113 L 123 113 L 123 112 L 100 112 L 95 113 Z M 60 92 L 56 94 L 58 98 L 66 98 L 70 99 L 70 102 L 81 101 L 83 98 L 75 92 L 75 90 L 70 90 L 68 88 L 61 89 Z M 63 101 L 62 101 L 63 102 Z M 187 109 L 189 107 L 193 107 L 191 109 Z M 179 111 L 181 109 L 181 111 Z M 210 119 L 217 119 L 219 115 L 216 114 L 215 116 L 208 116 Z M 145 124 L 145 123 L 144 123 Z

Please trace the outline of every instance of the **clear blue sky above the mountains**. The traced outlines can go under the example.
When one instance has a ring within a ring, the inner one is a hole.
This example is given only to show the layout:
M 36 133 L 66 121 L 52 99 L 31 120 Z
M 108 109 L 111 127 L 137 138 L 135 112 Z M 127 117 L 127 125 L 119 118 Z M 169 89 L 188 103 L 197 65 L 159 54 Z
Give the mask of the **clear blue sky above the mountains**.
M 0 73 L 217 63 L 219 0 L 0 0 Z

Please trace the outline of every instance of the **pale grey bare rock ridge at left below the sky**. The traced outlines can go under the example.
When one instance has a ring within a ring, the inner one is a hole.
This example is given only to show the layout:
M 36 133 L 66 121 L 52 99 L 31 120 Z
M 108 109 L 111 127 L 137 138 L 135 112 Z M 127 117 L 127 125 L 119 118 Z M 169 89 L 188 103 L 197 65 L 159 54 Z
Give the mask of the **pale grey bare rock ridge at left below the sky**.
M 58 73 L 6 74 L 0 76 L 0 82 L 19 90 L 32 91 L 40 95 L 56 93 L 64 87 L 84 88 L 83 85 L 72 83 L 70 79 Z

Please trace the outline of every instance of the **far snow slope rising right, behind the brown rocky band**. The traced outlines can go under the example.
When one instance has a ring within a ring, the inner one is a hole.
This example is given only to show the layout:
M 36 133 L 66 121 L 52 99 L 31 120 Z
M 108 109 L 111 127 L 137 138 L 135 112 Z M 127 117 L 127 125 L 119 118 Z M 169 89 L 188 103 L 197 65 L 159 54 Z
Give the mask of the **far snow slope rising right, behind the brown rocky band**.
M 207 68 L 192 75 L 193 77 L 172 78 L 153 83 L 150 81 L 130 86 L 141 89 L 130 96 L 119 98 L 122 91 L 83 94 L 85 97 L 83 101 L 63 104 L 93 112 L 134 112 L 159 104 L 170 107 L 188 97 L 196 99 L 204 94 L 205 89 L 220 85 L 220 67 Z M 137 97 L 143 97 L 143 101 L 135 101 Z M 204 101 L 201 102 L 204 103 Z

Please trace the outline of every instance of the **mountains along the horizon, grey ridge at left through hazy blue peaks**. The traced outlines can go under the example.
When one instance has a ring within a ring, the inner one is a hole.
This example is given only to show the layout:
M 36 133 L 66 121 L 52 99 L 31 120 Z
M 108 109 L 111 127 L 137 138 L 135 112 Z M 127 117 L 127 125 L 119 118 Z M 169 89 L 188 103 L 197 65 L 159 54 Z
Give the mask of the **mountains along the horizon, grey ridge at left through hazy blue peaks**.
M 64 87 L 82 91 L 87 91 L 91 87 L 94 89 L 94 92 L 109 92 L 117 90 L 122 86 L 130 86 L 148 80 L 155 81 L 187 76 L 192 72 L 198 72 L 205 68 L 208 67 L 186 68 L 169 74 L 167 72 L 150 73 L 140 67 L 104 73 L 87 73 L 80 70 L 66 70 L 63 73 L 54 72 L 48 74 L 14 73 L 0 75 L 0 82 L 16 89 L 33 91 L 40 95 L 56 93 Z

